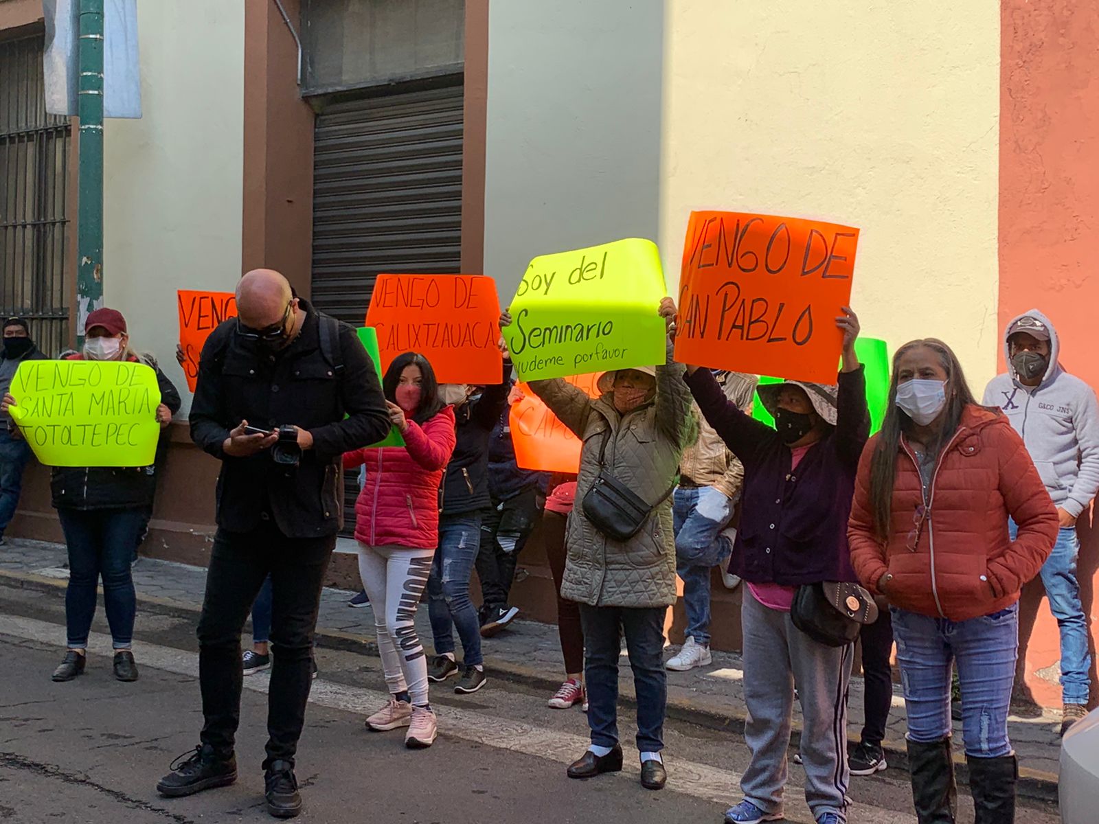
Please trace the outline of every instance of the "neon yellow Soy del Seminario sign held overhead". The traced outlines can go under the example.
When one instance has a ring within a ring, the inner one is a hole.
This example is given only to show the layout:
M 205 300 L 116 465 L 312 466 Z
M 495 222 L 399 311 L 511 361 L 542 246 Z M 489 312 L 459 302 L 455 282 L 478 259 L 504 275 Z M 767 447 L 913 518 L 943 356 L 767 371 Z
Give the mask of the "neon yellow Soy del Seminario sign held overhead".
M 503 330 L 523 380 L 665 360 L 656 244 L 631 238 L 531 260 Z

